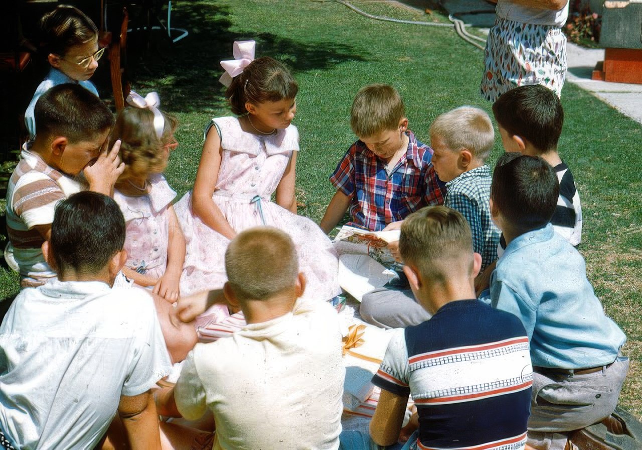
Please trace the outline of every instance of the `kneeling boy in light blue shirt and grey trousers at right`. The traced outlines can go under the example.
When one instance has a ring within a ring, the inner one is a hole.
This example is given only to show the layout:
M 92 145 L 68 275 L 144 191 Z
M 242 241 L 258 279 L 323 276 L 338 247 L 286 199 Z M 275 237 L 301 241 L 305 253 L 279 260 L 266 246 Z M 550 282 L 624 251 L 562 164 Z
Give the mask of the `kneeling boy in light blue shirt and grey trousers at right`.
M 492 177 L 490 212 L 507 248 L 490 280 L 492 306 L 523 322 L 533 362 L 528 444 L 564 449 L 562 434 L 608 417 L 629 359 L 626 336 L 605 316 L 584 258 L 549 223 L 559 198 L 553 168 L 507 153 Z

